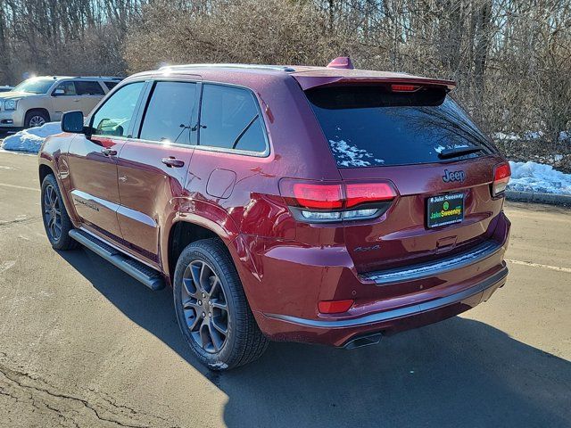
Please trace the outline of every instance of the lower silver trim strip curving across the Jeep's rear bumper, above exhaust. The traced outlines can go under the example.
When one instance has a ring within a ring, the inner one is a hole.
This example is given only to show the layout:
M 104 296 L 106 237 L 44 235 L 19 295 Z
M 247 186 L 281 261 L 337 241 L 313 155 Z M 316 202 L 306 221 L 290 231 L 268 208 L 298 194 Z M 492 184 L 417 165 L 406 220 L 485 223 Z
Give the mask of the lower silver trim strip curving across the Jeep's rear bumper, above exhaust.
M 366 315 L 364 317 L 343 319 L 343 320 L 316 320 L 316 319 L 306 319 L 298 317 L 290 317 L 288 315 L 279 314 L 264 314 L 266 317 L 277 319 L 280 321 L 286 321 L 288 323 L 294 323 L 297 325 L 304 325 L 308 327 L 317 328 L 346 328 L 346 327 L 358 327 L 361 325 L 370 325 L 374 323 L 380 323 L 384 321 L 389 321 L 395 318 L 410 317 L 418 315 L 422 312 L 427 312 L 429 310 L 439 309 L 444 306 L 451 305 L 453 303 L 458 303 L 461 300 L 468 299 L 479 292 L 484 292 L 486 289 L 491 288 L 493 285 L 505 281 L 506 276 L 508 276 L 508 268 L 504 265 L 500 272 L 484 279 L 479 284 L 464 290 L 463 292 L 457 292 L 451 294 L 450 296 L 442 297 L 440 299 L 429 300 L 424 303 L 418 303 L 417 305 L 407 306 L 405 308 L 386 310 L 385 312 L 377 312 L 376 314 Z

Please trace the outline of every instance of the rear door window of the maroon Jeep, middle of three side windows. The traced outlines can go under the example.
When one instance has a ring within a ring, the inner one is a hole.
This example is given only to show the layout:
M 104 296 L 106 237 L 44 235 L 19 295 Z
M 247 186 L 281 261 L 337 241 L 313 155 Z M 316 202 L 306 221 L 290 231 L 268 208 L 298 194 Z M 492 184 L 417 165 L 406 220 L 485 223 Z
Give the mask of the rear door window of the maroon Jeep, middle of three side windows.
M 139 137 L 164 143 L 191 144 L 195 99 L 195 83 L 157 82 Z

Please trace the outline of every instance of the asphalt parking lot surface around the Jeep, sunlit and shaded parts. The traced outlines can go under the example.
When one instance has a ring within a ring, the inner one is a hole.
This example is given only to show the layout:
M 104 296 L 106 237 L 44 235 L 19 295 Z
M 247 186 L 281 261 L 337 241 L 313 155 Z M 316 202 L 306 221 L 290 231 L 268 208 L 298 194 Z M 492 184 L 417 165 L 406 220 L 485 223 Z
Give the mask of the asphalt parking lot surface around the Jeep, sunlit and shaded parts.
M 360 350 L 272 343 L 212 374 L 169 290 L 51 249 L 37 158 L 0 152 L 0 426 L 569 427 L 571 210 L 506 211 L 509 280 L 476 309 Z

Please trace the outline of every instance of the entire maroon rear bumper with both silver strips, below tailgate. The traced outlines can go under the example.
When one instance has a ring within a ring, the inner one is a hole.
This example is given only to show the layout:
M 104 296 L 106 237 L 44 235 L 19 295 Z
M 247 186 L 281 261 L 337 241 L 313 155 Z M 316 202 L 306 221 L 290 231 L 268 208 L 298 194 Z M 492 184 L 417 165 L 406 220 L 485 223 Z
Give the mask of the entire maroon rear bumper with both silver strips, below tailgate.
M 489 240 L 465 253 L 370 274 L 357 273 L 343 249 L 266 245 L 258 277 L 244 281 L 243 276 L 243 284 L 269 339 L 343 346 L 371 333 L 432 324 L 487 300 L 506 282 L 509 228 L 501 213 Z M 253 284 L 261 288 L 254 290 Z M 320 300 L 343 299 L 355 300 L 343 314 L 317 310 Z

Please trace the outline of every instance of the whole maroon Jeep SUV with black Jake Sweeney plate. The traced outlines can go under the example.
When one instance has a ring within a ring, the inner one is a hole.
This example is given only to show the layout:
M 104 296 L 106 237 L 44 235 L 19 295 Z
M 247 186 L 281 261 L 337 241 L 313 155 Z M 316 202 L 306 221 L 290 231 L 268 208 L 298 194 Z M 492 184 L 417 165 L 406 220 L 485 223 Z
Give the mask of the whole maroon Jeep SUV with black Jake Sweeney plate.
M 214 370 L 452 317 L 505 283 L 510 225 L 509 164 L 453 87 L 348 58 L 138 73 L 46 139 L 47 236 L 170 285 Z

